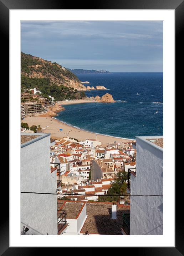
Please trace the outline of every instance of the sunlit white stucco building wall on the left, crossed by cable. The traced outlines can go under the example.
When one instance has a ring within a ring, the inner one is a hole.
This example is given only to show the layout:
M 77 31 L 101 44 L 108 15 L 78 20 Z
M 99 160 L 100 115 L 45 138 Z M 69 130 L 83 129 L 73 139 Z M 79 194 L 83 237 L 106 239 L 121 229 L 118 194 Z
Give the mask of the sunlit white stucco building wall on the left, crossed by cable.
M 56 193 L 56 172 L 50 172 L 50 134 L 40 135 L 40 140 L 21 144 L 20 189 Z M 20 228 L 30 228 L 26 235 L 57 235 L 57 195 L 21 193 L 20 205 Z

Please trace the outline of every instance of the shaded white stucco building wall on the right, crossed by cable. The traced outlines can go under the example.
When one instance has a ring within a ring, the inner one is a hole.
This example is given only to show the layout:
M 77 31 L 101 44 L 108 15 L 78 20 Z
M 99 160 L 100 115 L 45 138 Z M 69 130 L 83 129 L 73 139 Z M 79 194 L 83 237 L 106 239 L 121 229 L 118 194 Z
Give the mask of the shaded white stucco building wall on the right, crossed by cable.
M 163 148 L 136 137 L 136 149 L 131 195 L 163 195 Z M 131 197 L 130 235 L 163 235 L 163 197 Z

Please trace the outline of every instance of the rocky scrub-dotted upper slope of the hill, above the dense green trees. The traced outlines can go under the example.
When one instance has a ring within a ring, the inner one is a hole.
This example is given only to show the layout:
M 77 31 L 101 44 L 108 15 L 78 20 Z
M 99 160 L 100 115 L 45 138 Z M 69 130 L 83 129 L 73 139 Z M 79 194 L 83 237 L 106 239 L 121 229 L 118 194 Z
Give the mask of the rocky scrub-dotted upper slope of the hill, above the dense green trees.
M 28 78 L 49 79 L 50 85 L 63 85 L 77 91 L 86 91 L 85 85 L 70 70 L 56 62 L 21 53 L 21 75 Z

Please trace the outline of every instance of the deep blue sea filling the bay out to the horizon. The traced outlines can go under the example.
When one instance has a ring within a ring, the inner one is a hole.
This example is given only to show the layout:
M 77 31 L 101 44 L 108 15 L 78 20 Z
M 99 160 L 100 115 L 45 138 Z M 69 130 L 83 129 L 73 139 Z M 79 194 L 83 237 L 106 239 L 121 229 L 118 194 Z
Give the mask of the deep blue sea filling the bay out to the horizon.
M 163 135 L 163 73 L 112 73 L 77 75 L 90 87 L 108 90 L 85 92 L 88 97 L 105 93 L 116 103 L 65 105 L 57 119 L 86 131 L 131 138 Z M 123 102 L 122 102 L 123 101 Z M 156 103 L 159 102 L 159 103 Z

